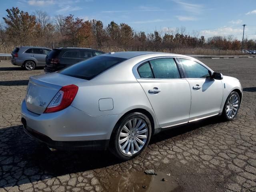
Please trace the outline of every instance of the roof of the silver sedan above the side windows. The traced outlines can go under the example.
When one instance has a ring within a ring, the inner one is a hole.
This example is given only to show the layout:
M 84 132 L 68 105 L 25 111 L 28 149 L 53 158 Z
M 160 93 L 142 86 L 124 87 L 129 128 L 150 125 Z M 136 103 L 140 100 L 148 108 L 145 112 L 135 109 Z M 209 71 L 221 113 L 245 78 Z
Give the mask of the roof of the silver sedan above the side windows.
M 112 56 L 112 57 L 119 57 L 130 59 L 137 56 L 148 55 L 150 56 L 174 56 L 174 57 L 186 57 L 191 58 L 190 56 L 174 54 L 174 53 L 165 53 L 165 52 L 150 52 L 150 51 L 124 51 L 124 52 L 109 52 L 104 54 L 104 56 Z

